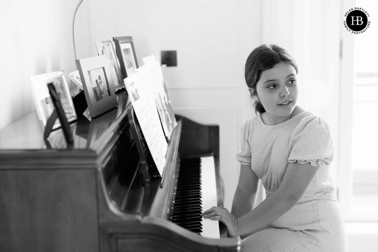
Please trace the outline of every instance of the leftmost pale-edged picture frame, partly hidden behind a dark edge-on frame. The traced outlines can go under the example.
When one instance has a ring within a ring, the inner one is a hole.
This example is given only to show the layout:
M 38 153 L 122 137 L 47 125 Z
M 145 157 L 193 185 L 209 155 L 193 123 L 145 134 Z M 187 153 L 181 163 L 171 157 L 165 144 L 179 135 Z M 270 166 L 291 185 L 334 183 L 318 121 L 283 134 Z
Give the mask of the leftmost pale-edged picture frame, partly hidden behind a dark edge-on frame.
M 70 90 L 64 77 L 64 71 L 34 75 L 30 77 L 30 80 L 33 89 L 34 105 L 36 106 L 38 118 L 42 122 L 43 127 L 46 126 L 47 120 L 55 109 L 47 87 L 47 84 L 51 82 L 54 84 L 58 93 L 68 123 L 77 119 Z M 51 130 L 55 130 L 60 126 L 59 118 L 57 118 Z

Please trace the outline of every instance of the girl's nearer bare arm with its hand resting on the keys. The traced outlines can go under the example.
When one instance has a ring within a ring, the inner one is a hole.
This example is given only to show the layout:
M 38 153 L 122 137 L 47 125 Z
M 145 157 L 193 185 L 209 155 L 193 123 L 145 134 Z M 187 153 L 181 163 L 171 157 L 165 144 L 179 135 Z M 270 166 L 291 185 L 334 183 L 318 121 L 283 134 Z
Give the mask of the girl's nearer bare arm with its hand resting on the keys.
M 293 207 L 318 170 L 319 166 L 311 166 L 309 162 L 289 163 L 280 187 L 249 213 L 235 219 L 224 207 L 212 207 L 203 213 L 204 218 L 222 221 L 231 236 L 254 232 L 272 223 Z

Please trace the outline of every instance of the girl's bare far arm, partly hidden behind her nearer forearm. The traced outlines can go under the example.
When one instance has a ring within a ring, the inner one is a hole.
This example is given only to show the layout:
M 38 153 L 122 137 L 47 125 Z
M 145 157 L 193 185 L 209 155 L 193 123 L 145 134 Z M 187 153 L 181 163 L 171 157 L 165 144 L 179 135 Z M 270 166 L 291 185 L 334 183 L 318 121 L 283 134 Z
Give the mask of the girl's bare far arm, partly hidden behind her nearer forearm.
M 231 209 L 235 218 L 239 218 L 253 209 L 259 190 L 259 181 L 250 165 L 240 165 L 239 183 Z

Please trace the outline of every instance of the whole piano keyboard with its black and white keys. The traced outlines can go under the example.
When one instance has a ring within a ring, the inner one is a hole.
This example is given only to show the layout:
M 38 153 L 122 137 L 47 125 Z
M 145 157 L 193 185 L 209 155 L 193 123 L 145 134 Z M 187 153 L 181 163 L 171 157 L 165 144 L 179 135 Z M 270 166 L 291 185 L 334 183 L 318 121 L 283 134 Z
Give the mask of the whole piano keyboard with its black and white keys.
M 203 237 L 219 239 L 219 222 L 201 213 L 217 206 L 214 157 L 182 159 L 172 222 Z

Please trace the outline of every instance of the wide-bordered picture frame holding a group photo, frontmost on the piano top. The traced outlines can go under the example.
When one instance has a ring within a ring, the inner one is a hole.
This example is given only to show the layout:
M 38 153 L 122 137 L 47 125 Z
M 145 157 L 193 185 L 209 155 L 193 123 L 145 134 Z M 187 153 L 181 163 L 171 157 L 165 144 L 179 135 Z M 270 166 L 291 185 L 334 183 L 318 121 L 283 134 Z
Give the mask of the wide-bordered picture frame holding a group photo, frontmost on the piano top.
M 105 55 L 76 60 L 91 117 L 116 106 L 117 97 Z

